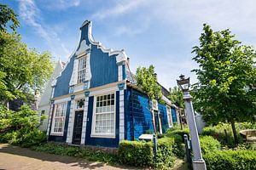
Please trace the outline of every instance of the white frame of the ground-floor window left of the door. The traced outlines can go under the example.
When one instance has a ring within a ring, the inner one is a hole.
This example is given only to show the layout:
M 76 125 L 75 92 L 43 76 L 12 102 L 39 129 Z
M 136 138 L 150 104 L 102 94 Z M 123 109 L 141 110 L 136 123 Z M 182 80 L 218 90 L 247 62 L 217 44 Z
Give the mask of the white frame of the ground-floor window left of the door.
M 57 105 L 64 105 L 64 116 L 59 116 L 58 118 L 63 118 L 63 123 L 62 123 L 62 132 L 55 132 L 55 118 L 56 118 L 56 110 L 57 110 Z M 64 127 L 65 127 L 65 120 L 66 120 L 66 116 L 67 116 L 67 102 L 62 102 L 62 103 L 57 103 L 55 104 L 55 109 L 54 109 L 54 112 L 53 112 L 53 118 L 52 118 L 52 125 L 51 125 L 51 132 L 50 134 L 53 134 L 53 135 L 59 135 L 59 136 L 62 136 L 63 133 L 64 133 Z

